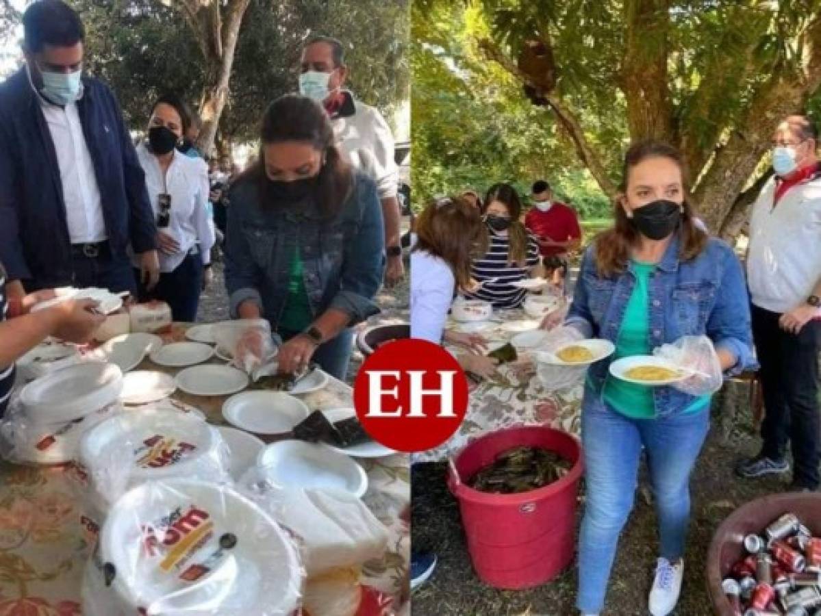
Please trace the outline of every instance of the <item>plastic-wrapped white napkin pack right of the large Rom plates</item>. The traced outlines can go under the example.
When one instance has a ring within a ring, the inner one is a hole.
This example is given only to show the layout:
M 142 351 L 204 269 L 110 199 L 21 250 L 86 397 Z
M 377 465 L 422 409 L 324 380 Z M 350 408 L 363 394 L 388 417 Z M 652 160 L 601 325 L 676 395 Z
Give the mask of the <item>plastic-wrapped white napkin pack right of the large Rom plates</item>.
M 242 486 L 283 527 L 300 537 L 309 577 L 364 564 L 384 554 L 388 529 L 354 495 L 345 491 L 280 488 L 258 481 L 259 468 L 245 473 Z

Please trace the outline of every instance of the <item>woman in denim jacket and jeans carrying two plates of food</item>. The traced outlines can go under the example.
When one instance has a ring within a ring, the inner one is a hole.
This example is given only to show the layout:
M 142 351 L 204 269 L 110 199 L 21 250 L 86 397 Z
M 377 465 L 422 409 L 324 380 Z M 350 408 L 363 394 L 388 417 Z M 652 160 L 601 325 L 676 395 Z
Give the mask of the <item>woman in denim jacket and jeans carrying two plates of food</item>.
M 674 609 L 690 519 L 690 471 L 723 374 L 754 366 L 741 264 L 709 239 L 686 201 L 679 153 L 655 142 L 626 154 L 615 228 L 585 253 L 565 325 L 554 340 L 604 338 L 616 353 L 587 373 L 582 404 L 587 497 L 579 545 L 582 614 L 599 614 L 621 528 L 633 507 L 641 449 L 658 513 L 660 554 L 649 611 Z M 674 386 L 609 376 L 614 359 L 660 354 L 698 371 Z

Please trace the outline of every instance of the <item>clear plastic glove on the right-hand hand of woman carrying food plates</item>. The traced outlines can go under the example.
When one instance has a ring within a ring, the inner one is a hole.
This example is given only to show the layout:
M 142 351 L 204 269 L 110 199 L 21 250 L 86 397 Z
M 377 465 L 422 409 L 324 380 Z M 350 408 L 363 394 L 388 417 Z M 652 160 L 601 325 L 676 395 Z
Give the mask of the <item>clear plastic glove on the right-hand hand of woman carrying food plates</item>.
M 709 395 L 721 389 L 724 376 L 721 362 L 706 335 L 686 335 L 672 345 L 661 345 L 653 351 L 682 370 L 695 372 L 693 376 L 673 384 L 679 391 L 690 395 Z

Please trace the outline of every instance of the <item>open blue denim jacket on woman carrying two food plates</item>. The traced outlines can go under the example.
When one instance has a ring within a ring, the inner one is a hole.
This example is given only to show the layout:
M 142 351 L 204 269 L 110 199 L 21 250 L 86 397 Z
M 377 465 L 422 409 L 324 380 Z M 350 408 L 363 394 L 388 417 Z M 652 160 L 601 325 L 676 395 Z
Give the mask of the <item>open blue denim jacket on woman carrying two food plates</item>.
M 650 347 L 672 343 L 684 335 L 707 335 L 717 350 L 727 349 L 736 358 L 728 376 L 758 367 L 753 354 L 750 298 L 735 253 L 721 240 L 712 238 L 690 261 L 679 259 L 679 248 L 676 236 L 657 270 L 650 274 Z M 599 276 L 595 244 L 591 245 L 582 260 L 566 324 L 588 337 L 617 344 L 634 286 L 632 264 L 615 277 Z M 604 359 L 590 367 L 585 387 L 588 404 L 601 397 L 611 361 Z M 654 388 L 657 418 L 681 412 L 694 400 L 673 387 Z

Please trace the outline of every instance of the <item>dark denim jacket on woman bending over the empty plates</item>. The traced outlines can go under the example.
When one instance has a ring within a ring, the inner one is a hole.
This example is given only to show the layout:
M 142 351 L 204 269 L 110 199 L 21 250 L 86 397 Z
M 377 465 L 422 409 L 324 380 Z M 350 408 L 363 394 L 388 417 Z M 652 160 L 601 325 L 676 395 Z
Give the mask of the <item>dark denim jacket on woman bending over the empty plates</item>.
M 330 221 L 310 202 L 264 208 L 251 178 L 234 185 L 228 201 L 225 281 L 232 317 L 251 299 L 277 329 L 297 245 L 312 317 L 336 308 L 353 325 L 379 312 L 373 298 L 382 284 L 384 227 L 373 180 L 355 174 L 351 194 Z

